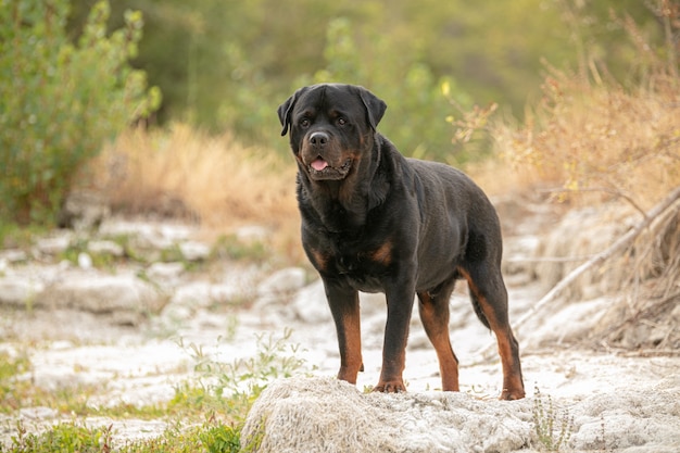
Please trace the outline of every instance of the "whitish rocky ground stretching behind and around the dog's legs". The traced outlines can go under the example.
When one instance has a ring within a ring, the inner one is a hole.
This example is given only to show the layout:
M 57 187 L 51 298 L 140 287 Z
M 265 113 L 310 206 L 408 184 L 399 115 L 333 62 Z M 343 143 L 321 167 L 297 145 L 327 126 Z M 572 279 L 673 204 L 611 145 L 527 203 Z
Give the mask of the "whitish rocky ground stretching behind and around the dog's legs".
M 516 231 L 507 235 L 505 253 L 515 263 L 506 265 L 515 319 L 546 290 L 517 264 L 531 255 L 540 237 L 526 228 Z M 178 382 L 196 375 L 192 351 L 234 361 L 255 355 L 267 339 L 282 339 L 304 360 L 298 378 L 331 377 L 339 356 L 323 288 L 308 268 L 253 259 L 261 252 L 253 244 L 266 234 L 244 228 L 214 242 L 189 225 L 118 218 L 108 219 L 93 235 L 59 230 L 29 248 L 2 250 L 0 351 L 27 354 L 33 366 L 25 378 L 45 389 L 96 386 L 101 391 L 91 395 L 93 405 L 167 401 Z M 235 259 L 238 253 L 245 257 Z M 680 351 L 641 354 L 578 341 L 610 301 L 597 297 L 549 306 L 516 329 L 528 390 L 528 398 L 513 406 L 524 432 L 516 442 L 484 443 L 484 432 L 474 431 L 458 446 L 403 451 L 538 450 L 532 414 L 536 402 L 546 403 L 547 395 L 556 413 L 572 417 L 569 442 L 576 451 L 680 451 Z M 360 390 L 378 379 L 385 299 L 363 294 L 362 311 L 366 369 Z M 679 310 L 672 313 L 680 318 Z M 677 329 L 678 320 L 670 326 Z M 498 404 L 515 403 L 488 401 L 500 393 L 500 364 L 482 354 L 494 339 L 476 319 L 463 285 L 452 299 L 451 331 L 461 361 L 461 398 L 468 399 L 451 404 L 488 411 L 490 419 L 498 419 L 499 411 L 508 407 Z M 437 358 L 417 314 L 404 377 L 416 399 L 430 398 L 440 386 Z M 0 415 L 0 441 L 13 435 L 17 418 L 40 429 L 63 416 L 49 407 Z M 417 433 L 425 428 L 416 421 Z M 123 419 L 113 428 L 116 437 L 135 439 L 162 432 L 165 423 Z

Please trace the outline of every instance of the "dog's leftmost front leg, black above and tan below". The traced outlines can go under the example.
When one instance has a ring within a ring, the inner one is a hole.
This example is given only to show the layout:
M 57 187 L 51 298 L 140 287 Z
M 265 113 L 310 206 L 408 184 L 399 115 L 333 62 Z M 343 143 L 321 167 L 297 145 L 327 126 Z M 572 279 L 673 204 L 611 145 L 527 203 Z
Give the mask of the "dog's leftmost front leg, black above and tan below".
M 364 366 L 358 293 L 332 280 L 324 280 L 324 287 L 338 334 L 340 349 L 338 379 L 356 383 L 356 375 Z

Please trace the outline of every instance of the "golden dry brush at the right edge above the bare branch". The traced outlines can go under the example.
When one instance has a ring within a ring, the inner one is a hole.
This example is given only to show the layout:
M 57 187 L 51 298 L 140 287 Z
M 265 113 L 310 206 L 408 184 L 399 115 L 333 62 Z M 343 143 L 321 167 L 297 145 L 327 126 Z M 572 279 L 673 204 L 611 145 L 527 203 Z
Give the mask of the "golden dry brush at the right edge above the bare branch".
M 646 210 L 680 185 L 680 83 L 658 75 L 626 90 L 551 70 L 522 125 L 502 122 L 500 154 L 565 200 L 620 198 Z M 521 173 L 520 173 L 521 174 Z

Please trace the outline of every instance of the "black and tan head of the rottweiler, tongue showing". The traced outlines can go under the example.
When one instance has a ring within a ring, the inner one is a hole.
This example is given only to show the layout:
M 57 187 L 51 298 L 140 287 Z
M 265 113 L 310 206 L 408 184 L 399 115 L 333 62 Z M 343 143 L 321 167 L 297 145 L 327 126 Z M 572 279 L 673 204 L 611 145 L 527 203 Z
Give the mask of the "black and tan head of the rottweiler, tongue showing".
M 387 104 L 363 87 L 300 88 L 278 108 L 300 168 L 314 180 L 344 179 L 373 148 Z

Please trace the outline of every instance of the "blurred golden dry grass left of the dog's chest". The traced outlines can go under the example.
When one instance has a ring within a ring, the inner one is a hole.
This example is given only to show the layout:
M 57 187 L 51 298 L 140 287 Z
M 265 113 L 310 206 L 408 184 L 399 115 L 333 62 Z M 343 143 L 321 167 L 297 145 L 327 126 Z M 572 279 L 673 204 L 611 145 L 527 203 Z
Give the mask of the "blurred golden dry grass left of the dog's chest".
M 190 219 L 215 232 L 264 226 L 279 252 L 301 257 L 292 158 L 175 124 L 123 134 L 90 171 L 116 212 Z

